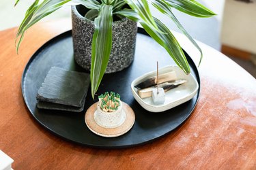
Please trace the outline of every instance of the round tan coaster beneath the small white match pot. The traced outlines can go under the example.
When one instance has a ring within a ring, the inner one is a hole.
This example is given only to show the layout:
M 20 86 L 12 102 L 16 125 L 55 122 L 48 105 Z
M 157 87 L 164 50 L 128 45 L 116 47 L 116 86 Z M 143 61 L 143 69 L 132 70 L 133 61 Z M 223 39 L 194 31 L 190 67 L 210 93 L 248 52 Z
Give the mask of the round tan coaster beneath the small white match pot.
M 102 137 L 118 137 L 120 135 L 124 135 L 124 133 L 127 133 L 132 128 L 135 122 L 135 114 L 128 104 L 122 102 L 124 112 L 126 113 L 126 120 L 116 128 L 104 128 L 95 122 L 94 112 L 97 109 L 97 104 L 98 102 L 91 105 L 85 113 L 85 124 L 90 131 Z

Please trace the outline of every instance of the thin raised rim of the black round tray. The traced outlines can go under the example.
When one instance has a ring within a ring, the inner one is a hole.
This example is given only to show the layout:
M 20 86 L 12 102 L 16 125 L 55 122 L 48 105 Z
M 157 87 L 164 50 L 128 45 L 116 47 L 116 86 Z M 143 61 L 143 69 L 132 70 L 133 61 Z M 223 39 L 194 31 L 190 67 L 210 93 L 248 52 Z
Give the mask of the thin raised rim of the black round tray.
M 147 35 L 150 37 L 150 35 L 145 31 L 145 29 L 141 28 L 141 27 L 138 27 L 138 31 L 137 33 L 141 33 L 143 35 Z M 199 85 L 199 88 L 197 90 L 197 99 L 195 101 L 195 103 L 193 104 L 193 107 L 192 109 L 190 110 L 190 113 L 188 114 L 188 116 L 186 116 L 184 118 L 184 120 L 182 122 L 180 122 L 179 125 L 175 126 L 175 128 L 171 129 L 170 131 L 167 131 L 166 133 L 158 136 L 158 137 L 154 137 L 153 139 L 149 139 L 147 141 L 142 141 L 141 143 L 131 143 L 131 144 L 128 144 L 128 145 L 122 145 L 122 146 L 100 146 L 100 145 L 91 145 L 91 144 L 85 144 L 85 143 L 80 143 L 78 141 L 74 141 L 72 139 L 68 139 L 67 137 L 63 137 L 63 135 L 60 135 L 59 133 L 53 131 L 52 129 L 50 129 L 48 126 L 46 126 L 45 124 L 43 124 L 38 118 L 36 118 L 36 116 L 32 113 L 31 111 L 31 108 L 28 106 L 28 103 L 27 103 L 27 99 L 26 99 L 26 96 L 25 96 L 25 89 L 24 89 L 24 81 L 25 81 L 25 75 L 27 74 L 27 71 L 29 69 L 29 66 L 31 65 L 31 63 L 33 62 L 34 58 L 37 56 L 38 53 L 40 53 L 46 46 L 48 46 L 49 44 L 51 44 L 53 41 L 55 41 L 55 39 L 59 38 L 59 37 L 67 37 L 67 35 L 70 35 L 72 36 L 72 29 L 68 30 L 68 31 L 65 31 L 59 35 L 56 35 L 55 37 L 52 37 L 51 39 L 49 39 L 48 41 L 46 41 L 40 48 L 38 48 L 38 50 L 36 50 L 32 55 L 31 57 L 29 58 L 29 61 L 27 62 L 27 64 L 25 65 L 25 68 L 23 69 L 23 74 L 22 74 L 22 78 L 21 78 L 21 82 L 20 82 L 20 85 L 21 85 L 21 91 L 22 91 L 22 94 L 23 94 L 23 100 L 25 101 L 25 104 L 26 104 L 26 107 L 27 109 L 29 109 L 29 112 L 31 114 L 31 116 L 33 116 L 33 118 L 35 118 L 35 120 L 37 121 L 37 123 L 39 123 L 41 126 L 43 126 L 45 129 L 47 129 L 48 131 L 50 131 L 51 133 L 53 133 L 54 135 L 57 135 L 58 137 L 61 137 L 61 139 L 65 139 L 66 141 L 71 141 L 72 143 L 77 143 L 81 146 L 88 146 L 88 147 L 91 147 L 91 148 L 104 148 L 104 149 L 113 149 L 113 148 L 131 148 L 131 147 L 135 147 L 135 146 L 141 146 L 141 145 L 144 145 L 145 143 L 150 143 L 151 141 L 155 141 L 157 140 L 158 138 L 160 137 L 164 137 L 165 135 L 171 133 L 171 131 L 174 131 L 175 129 L 177 129 L 178 127 L 182 126 L 182 124 L 188 119 L 188 117 L 192 114 L 192 112 L 195 110 L 195 107 L 199 101 L 199 96 L 200 96 L 200 91 L 201 91 L 201 79 L 200 79 L 200 75 L 199 75 L 199 71 L 197 69 L 197 65 L 195 65 L 195 62 L 193 61 L 193 59 L 188 55 L 188 53 L 182 48 L 185 56 L 188 56 L 186 57 L 188 63 L 190 63 L 190 67 L 194 67 L 195 69 L 193 69 L 194 73 L 195 73 L 195 79 L 197 80 L 197 83 Z M 152 37 L 150 37 L 152 38 Z M 156 114 L 156 113 L 153 113 L 153 114 Z M 136 119 L 135 119 L 135 122 L 136 122 Z M 134 123 L 135 123 L 134 122 Z M 130 129 L 131 131 L 132 129 Z

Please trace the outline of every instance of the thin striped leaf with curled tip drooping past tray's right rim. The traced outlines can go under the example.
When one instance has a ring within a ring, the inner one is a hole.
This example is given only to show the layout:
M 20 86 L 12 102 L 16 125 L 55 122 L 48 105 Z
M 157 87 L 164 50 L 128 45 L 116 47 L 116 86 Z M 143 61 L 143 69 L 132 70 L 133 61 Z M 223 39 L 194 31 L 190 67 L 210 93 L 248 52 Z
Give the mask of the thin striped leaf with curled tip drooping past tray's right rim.
M 158 9 L 160 12 L 162 12 L 163 14 L 166 14 L 167 16 L 169 16 L 169 18 L 171 18 L 171 20 L 173 20 L 173 22 L 175 22 L 175 24 L 177 25 L 177 27 L 180 29 L 180 31 L 182 31 L 182 33 L 184 33 L 184 35 L 186 35 L 186 37 L 188 37 L 188 39 L 192 42 L 192 44 L 197 48 L 197 50 L 199 50 L 201 56 L 200 56 L 200 61 L 199 61 L 199 65 L 201 63 L 201 60 L 203 58 L 203 52 L 201 50 L 201 48 L 198 46 L 197 42 L 193 39 L 193 37 L 191 37 L 188 32 L 184 29 L 184 27 L 182 26 L 182 24 L 180 24 L 179 20 L 177 20 L 177 18 L 175 17 L 175 15 L 173 14 L 173 12 L 171 11 L 171 7 L 169 7 L 169 5 L 167 5 L 167 3 L 165 3 L 162 0 L 154 0 L 152 1 L 152 5 L 154 5 L 154 7 L 156 7 L 156 9 Z

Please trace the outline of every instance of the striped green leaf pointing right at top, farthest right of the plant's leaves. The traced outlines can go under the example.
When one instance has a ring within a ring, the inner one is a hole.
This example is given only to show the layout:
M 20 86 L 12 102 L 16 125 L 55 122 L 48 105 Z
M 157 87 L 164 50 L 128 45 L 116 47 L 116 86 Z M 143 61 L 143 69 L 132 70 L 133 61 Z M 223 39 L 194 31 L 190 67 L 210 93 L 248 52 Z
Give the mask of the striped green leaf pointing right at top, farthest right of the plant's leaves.
M 181 12 L 196 17 L 210 17 L 216 15 L 207 7 L 201 5 L 195 0 L 162 0 L 167 2 L 171 7 L 174 7 Z

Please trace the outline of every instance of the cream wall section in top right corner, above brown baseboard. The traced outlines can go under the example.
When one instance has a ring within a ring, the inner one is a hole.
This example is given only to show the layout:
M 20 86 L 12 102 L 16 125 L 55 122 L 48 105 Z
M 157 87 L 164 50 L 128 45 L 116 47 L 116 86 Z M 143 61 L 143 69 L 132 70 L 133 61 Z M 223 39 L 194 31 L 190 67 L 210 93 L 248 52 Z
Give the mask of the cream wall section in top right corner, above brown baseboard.
M 256 54 L 256 0 L 226 0 L 224 9 L 221 43 Z

